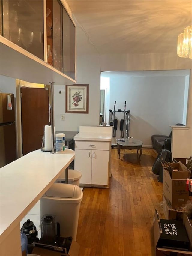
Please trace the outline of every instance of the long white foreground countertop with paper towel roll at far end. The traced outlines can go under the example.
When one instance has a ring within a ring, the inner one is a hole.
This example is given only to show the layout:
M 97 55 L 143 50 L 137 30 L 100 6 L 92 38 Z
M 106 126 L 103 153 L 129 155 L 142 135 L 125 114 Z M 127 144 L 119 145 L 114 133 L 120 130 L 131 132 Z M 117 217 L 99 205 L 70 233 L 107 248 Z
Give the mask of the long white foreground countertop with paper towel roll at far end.
M 51 154 L 39 149 L 0 169 L 1 242 L 74 158 L 74 151 Z

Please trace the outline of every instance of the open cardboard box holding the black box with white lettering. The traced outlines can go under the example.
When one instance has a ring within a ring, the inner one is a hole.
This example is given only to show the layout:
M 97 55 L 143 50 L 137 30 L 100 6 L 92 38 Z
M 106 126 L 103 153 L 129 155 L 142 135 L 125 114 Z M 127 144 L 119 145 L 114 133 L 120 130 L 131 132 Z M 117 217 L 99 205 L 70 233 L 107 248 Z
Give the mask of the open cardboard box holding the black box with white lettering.
M 191 234 L 192 234 L 192 227 L 190 224 L 189 219 L 187 218 L 187 215 L 184 213 L 183 214 L 183 224 L 185 226 L 185 229 L 187 231 L 187 235 L 190 241 L 190 251 L 181 251 L 181 250 L 173 250 L 173 249 L 167 249 L 167 248 L 160 248 L 158 247 L 158 241 L 161 237 L 161 233 L 160 233 L 160 224 L 158 221 L 158 216 L 155 212 L 155 216 L 154 216 L 154 220 L 153 220 L 153 227 L 154 227 L 154 243 L 155 243 L 155 255 L 156 256 L 188 256 L 191 255 Z

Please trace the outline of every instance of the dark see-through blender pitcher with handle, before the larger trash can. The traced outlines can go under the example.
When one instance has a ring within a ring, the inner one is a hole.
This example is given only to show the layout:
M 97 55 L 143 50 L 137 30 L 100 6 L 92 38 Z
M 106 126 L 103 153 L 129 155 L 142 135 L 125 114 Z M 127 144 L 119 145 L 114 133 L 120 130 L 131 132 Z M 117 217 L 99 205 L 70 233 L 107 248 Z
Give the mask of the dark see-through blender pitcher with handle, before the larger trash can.
M 60 224 L 57 222 L 57 235 L 55 233 L 55 215 L 44 215 L 41 218 L 41 240 L 45 244 L 55 245 L 60 236 Z

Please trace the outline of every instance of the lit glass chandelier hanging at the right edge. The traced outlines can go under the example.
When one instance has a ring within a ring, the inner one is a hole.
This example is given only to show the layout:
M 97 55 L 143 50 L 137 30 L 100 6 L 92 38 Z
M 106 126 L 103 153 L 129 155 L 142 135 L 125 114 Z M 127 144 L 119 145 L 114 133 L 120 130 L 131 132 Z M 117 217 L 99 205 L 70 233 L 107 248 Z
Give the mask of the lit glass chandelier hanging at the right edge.
M 177 38 L 177 55 L 192 59 L 192 26 L 184 28 Z

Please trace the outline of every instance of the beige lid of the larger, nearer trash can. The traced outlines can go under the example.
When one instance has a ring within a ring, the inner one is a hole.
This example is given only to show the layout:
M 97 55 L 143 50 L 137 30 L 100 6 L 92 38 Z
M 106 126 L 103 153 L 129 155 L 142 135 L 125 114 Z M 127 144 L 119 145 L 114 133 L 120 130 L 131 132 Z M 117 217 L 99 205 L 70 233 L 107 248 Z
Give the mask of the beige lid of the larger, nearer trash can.
M 54 183 L 45 193 L 47 197 L 73 198 L 81 196 L 81 189 L 73 184 Z

